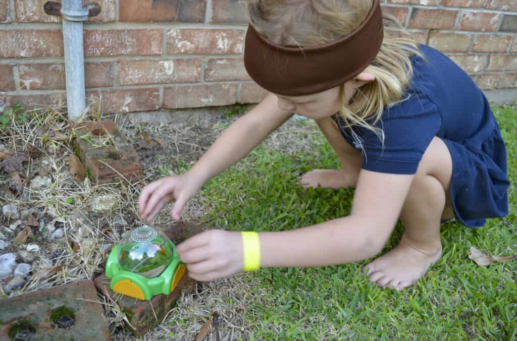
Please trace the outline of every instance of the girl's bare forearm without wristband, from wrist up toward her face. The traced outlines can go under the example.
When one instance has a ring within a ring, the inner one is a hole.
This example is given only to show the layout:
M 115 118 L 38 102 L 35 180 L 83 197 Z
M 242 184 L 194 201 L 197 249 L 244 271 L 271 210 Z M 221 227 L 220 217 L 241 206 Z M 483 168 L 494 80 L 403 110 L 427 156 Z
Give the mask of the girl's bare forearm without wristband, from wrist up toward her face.
M 201 183 L 207 182 L 245 157 L 291 116 L 293 113 L 280 110 L 277 96 L 269 94 L 224 130 L 189 173 Z

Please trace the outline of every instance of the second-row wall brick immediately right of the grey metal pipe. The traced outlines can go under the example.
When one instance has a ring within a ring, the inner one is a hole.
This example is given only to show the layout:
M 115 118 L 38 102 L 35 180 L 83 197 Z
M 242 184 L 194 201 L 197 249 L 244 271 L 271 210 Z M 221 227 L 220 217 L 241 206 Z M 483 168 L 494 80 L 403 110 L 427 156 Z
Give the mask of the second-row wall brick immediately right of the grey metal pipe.
M 160 55 L 161 29 L 87 29 L 84 54 L 88 57 L 120 55 Z

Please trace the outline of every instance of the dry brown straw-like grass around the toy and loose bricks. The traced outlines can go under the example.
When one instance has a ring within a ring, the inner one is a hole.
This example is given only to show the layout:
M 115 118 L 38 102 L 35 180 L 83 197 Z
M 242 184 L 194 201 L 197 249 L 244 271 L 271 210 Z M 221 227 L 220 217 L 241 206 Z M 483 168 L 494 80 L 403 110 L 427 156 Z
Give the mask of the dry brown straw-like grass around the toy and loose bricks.
M 50 239 L 44 234 L 36 234 L 34 240 L 27 241 L 38 244 L 41 249 L 32 264 L 32 276 L 22 289 L 13 291 L 9 296 L 93 279 L 102 273 L 108 252 L 119 241 L 121 234 L 144 224 L 139 219 L 137 205 L 143 185 L 177 173 L 180 169 L 178 164 L 190 165 L 195 162 L 221 131 L 236 119 L 207 115 L 171 125 L 141 123 L 130 115 L 112 116 L 131 143 L 136 144 L 148 138 L 158 139 L 160 143 L 139 150 L 145 173 L 141 181 L 95 185 L 88 179 L 80 181 L 70 173 L 73 129 L 65 119 L 66 112 L 49 108 L 29 113 L 32 116 L 29 121 L 0 130 L 0 145 L 4 145 L 4 150 L 9 153 L 26 153 L 36 147 L 41 150 L 41 156 L 36 158 L 33 154 L 25 166 L 25 173 L 20 174 L 23 194 L 11 190 L 12 175 L 0 174 L 0 204 L 12 204 L 19 211 L 37 211 L 39 220 L 62 227 L 65 237 Z M 96 112 L 88 118 L 100 117 Z M 273 132 L 264 143 L 270 148 L 293 152 L 310 148 L 310 141 L 316 131 L 317 128 L 311 122 L 301 126 L 289 121 Z M 34 189 L 31 180 L 38 175 L 50 178 L 50 185 Z M 102 196 L 111 198 L 113 205 L 105 210 L 93 211 L 95 201 Z M 209 209 L 203 205 L 201 197 L 196 195 L 186 205 L 183 219 L 203 220 L 204 213 Z M 125 222 L 120 218 L 124 218 Z M 8 223 L 0 220 L 0 225 L 7 226 Z M 169 210 L 164 209 L 153 225 L 164 228 L 172 223 Z M 13 239 L 16 235 L 10 237 Z M 76 249 L 79 245 L 80 250 L 74 252 L 72 245 L 76 245 Z M 16 252 L 23 246 L 12 244 L 6 252 Z M 53 259 L 52 252 L 56 250 L 63 250 L 64 253 Z M 207 283 L 202 286 L 201 292 L 184 295 L 166 320 L 143 339 L 193 339 L 214 312 L 219 313 L 221 339 L 246 339 L 248 326 L 244 310 L 267 293 L 257 291 L 256 283 L 249 281 L 249 278 L 244 281 L 245 276 L 237 275 Z M 99 298 L 99 303 L 104 305 L 107 312 L 113 339 L 131 339 L 131 334 L 121 328 L 127 319 L 121 313 L 116 297 Z M 215 339 L 214 333 L 210 334 L 209 339 Z

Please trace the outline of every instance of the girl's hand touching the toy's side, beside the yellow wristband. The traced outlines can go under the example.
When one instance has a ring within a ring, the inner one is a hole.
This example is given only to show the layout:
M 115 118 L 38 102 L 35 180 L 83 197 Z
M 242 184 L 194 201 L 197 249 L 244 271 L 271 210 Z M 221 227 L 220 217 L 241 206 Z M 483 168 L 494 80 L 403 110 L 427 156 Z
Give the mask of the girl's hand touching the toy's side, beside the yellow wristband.
M 241 272 L 244 265 L 240 232 L 205 231 L 178 244 L 176 251 L 189 276 L 200 282 Z

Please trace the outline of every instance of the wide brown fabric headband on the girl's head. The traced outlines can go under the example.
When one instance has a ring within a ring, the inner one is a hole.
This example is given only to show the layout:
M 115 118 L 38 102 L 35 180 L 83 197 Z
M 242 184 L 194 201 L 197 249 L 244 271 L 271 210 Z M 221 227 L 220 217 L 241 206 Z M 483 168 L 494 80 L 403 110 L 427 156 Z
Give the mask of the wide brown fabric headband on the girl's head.
M 346 83 L 366 69 L 381 49 L 383 37 L 379 0 L 374 0 L 366 20 L 351 34 L 308 48 L 277 45 L 249 25 L 244 65 L 251 78 L 273 94 L 317 94 Z

